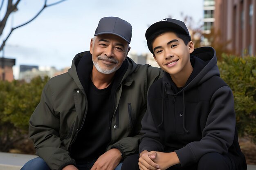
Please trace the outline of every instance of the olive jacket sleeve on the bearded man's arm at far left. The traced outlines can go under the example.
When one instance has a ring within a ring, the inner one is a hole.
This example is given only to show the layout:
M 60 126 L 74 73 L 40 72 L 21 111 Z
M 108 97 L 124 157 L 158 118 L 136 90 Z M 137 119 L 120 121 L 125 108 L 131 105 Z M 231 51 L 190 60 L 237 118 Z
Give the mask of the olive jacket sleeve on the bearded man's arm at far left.
M 45 160 L 52 170 L 62 170 L 75 164 L 59 135 L 60 118 L 54 115 L 52 90 L 46 84 L 40 103 L 29 120 L 29 136 L 34 142 L 36 155 Z

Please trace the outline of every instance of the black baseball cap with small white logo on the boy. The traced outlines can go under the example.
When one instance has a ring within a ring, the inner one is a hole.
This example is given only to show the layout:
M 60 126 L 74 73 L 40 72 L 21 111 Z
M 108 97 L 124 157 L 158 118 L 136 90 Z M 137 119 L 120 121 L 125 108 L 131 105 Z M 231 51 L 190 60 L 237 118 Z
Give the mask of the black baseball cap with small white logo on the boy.
M 175 31 L 180 31 L 181 33 L 188 35 L 190 38 L 190 41 L 191 41 L 189 30 L 187 29 L 184 22 L 182 22 L 180 20 L 175 20 L 172 18 L 165 18 L 162 21 L 156 22 L 155 24 L 152 24 L 151 26 L 149 26 L 146 31 L 146 34 L 145 34 L 146 39 L 148 40 L 148 38 L 153 33 L 155 33 L 158 30 L 161 30 L 161 29 L 170 29 L 170 31 L 172 31 L 172 29 L 174 29 Z

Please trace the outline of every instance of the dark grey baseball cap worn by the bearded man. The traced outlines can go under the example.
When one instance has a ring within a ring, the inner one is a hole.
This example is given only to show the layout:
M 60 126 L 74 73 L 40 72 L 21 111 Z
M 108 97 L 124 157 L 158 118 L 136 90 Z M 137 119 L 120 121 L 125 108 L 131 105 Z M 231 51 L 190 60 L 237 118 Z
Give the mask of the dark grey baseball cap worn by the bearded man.
M 130 44 L 132 38 L 132 26 L 129 22 L 118 17 L 104 17 L 99 20 L 94 36 L 101 34 L 117 35 Z

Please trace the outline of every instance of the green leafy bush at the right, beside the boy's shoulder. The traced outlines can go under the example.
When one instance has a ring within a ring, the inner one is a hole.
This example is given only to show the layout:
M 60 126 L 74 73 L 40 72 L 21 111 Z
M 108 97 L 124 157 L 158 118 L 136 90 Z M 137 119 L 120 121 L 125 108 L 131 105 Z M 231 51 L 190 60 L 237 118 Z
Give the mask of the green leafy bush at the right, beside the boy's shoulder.
M 234 95 L 236 126 L 240 136 L 256 141 L 256 57 L 222 54 L 220 76 Z

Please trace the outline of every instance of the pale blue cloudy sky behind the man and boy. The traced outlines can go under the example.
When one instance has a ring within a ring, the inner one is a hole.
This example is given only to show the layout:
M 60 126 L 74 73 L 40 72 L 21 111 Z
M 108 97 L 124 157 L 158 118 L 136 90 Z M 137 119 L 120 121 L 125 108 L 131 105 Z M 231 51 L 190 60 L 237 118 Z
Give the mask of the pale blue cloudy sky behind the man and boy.
M 47 4 L 57 1 L 48 0 Z M 43 4 L 44 0 L 20 0 L 18 11 L 11 14 L 0 37 L 1 43 L 11 26 L 33 18 Z M 1 19 L 3 15 L 1 10 Z M 15 71 L 20 65 L 71 66 L 76 53 L 89 50 L 90 39 L 105 16 L 128 21 L 132 25 L 131 51 L 148 53 L 145 31 L 150 24 L 169 16 L 178 20 L 190 16 L 198 23 L 203 18 L 203 0 L 66 0 L 47 7 L 35 20 L 14 30 L 0 57 L 15 58 Z

